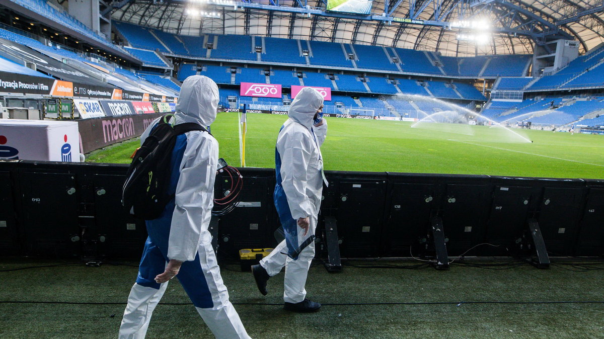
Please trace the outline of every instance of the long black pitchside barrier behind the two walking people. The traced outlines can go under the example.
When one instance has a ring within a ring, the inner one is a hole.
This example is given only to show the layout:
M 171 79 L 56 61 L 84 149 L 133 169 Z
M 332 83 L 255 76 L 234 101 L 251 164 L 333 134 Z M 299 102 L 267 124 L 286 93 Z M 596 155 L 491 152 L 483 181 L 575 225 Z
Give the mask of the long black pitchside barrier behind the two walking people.
M 144 223 L 123 212 L 126 165 L 0 162 L 0 253 L 138 258 Z M 219 255 L 277 244 L 272 169 L 241 168 L 239 206 L 214 218 Z M 327 171 L 317 256 L 533 258 L 604 254 L 604 180 Z M 230 188 L 219 175 L 216 195 Z

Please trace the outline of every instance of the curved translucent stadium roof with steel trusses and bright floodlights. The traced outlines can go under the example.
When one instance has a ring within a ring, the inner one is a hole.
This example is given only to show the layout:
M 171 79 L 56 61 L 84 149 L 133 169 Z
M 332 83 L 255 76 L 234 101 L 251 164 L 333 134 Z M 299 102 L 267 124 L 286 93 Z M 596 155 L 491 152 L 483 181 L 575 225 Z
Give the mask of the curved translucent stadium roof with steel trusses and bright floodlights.
M 586 52 L 604 40 L 602 0 L 374 0 L 367 15 L 326 11 L 326 5 L 327 0 L 121 0 L 114 2 L 112 17 L 178 34 L 250 34 L 457 56 L 531 54 L 535 44 L 560 38 L 579 41 L 580 52 Z M 219 17 L 191 15 L 191 8 Z M 460 28 L 468 25 L 474 29 Z M 477 38 L 485 41 L 472 41 Z

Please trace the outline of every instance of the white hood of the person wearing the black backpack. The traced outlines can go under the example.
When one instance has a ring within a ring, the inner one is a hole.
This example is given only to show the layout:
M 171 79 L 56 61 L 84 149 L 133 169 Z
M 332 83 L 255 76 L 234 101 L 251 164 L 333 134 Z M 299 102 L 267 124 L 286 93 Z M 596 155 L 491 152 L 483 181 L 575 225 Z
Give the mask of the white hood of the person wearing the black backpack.
M 204 75 L 191 75 L 182 83 L 176 103 L 176 113 L 185 122 L 196 122 L 207 127 L 216 119 L 218 86 Z

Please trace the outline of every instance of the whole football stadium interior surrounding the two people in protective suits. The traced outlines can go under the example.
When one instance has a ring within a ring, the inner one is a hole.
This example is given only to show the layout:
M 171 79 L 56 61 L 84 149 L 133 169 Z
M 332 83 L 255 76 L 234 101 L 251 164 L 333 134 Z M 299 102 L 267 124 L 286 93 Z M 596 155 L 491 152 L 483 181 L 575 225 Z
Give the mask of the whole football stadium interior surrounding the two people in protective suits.
M 603 13 L 0 0 L 0 334 L 118 334 L 147 239 L 122 206 L 127 164 L 204 75 L 219 89 L 204 127 L 243 177 L 217 173 L 214 201 L 236 199 L 208 230 L 251 337 L 604 337 Z M 262 255 L 245 253 L 286 236 L 275 142 L 305 87 L 324 99 L 329 186 L 306 284 L 323 308 L 294 314 L 283 274 L 263 297 Z M 149 337 L 212 337 L 185 290 L 171 283 Z

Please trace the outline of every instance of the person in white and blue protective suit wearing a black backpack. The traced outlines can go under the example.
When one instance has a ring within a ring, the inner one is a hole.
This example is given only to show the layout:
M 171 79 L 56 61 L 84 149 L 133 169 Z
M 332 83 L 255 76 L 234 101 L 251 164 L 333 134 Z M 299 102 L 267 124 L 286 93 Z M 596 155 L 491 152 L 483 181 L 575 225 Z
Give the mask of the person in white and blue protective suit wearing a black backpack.
M 173 122 L 207 127 L 216 118 L 218 100 L 213 80 L 188 77 L 182 83 Z M 141 144 L 157 122 L 144 131 Z M 218 143 L 206 131 L 177 137 L 168 188 L 174 198 L 159 218 L 146 221 L 149 238 L 121 321 L 120 338 L 145 337 L 153 309 L 175 276 L 214 336 L 249 338 L 229 301 L 208 231 L 217 162 Z

